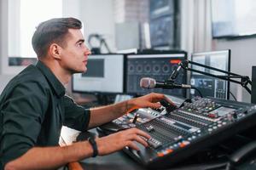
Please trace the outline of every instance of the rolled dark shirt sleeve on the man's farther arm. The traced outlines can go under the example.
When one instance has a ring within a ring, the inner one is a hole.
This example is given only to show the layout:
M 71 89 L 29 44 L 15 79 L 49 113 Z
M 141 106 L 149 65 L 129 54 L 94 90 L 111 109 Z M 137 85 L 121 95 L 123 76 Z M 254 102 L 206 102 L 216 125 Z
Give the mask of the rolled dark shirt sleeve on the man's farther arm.
M 63 100 L 63 105 L 65 107 L 64 125 L 82 132 L 87 130 L 90 122 L 90 110 L 77 105 L 73 99 L 67 95 L 64 96 Z

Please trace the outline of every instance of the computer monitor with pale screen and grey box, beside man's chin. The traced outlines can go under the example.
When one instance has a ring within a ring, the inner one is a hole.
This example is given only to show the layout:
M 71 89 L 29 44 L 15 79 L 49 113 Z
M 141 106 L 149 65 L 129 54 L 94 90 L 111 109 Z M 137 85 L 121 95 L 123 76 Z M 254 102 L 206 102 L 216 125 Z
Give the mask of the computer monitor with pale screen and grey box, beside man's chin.
M 124 54 L 90 55 L 87 71 L 73 75 L 73 92 L 124 93 L 124 65 Z

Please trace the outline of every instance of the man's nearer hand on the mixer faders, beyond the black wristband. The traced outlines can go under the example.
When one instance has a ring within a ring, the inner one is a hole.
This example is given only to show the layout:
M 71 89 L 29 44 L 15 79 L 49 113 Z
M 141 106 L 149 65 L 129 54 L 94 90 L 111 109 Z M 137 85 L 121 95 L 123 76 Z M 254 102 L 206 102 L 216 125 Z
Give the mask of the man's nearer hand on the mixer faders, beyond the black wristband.
M 122 150 L 125 146 L 129 146 L 134 150 L 139 150 L 134 141 L 143 144 L 145 147 L 148 143 L 142 138 L 149 139 L 148 133 L 137 128 L 130 128 L 119 133 L 113 133 L 106 137 L 96 139 L 99 155 L 104 156 L 111 154 L 117 150 Z

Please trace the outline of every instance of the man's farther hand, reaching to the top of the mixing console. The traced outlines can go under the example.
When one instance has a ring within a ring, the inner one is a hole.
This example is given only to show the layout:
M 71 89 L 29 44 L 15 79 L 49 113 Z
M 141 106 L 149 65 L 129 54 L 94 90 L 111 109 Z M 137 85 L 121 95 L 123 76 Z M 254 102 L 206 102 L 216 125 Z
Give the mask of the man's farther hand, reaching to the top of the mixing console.
M 170 104 L 174 105 L 170 99 L 168 99 L 164 94 L 151 93 L 144 95 L 139 98 L 130 99 L 127 101 L 127 112 L 130 112 L 135 109 L 151 107 L 151 108 L 160 108 L 159 101 L 165 99 Z

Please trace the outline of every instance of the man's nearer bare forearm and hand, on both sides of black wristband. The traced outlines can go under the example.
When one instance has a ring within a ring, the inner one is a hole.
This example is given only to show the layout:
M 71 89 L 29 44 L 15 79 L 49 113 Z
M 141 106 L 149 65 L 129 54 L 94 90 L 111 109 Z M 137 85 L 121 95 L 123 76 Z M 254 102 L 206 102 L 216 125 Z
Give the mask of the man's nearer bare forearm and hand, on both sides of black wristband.
M 99 156 L 105 156 L 114 151 L 121 150 L 129 146 L 134 150 L 139 150 L 134 141 L 148 146 L 141 137 L 150 138 L 148 133 L 137 128 L 131 128 L 119 133 L 113 133 L 106 137 L 96 139 Z M 34 147 L 28 150 L 23 156 L 9 161 L 4 169 L 51 169 L 61 167 L 68 162 L 79 161 L 92 156 L 93 149 L 88 141 L 78 142 L 64 147 Z

